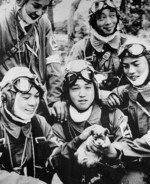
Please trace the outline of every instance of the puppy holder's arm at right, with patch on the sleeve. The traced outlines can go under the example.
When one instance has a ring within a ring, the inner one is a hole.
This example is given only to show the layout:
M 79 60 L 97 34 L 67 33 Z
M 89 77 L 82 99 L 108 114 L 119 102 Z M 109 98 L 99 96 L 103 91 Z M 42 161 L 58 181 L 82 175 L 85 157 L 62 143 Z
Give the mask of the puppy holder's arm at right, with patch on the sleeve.
M 109 137 L 106 137 L 102 145 L 103 155 L 109 158 L 119 158 L 124 145 L 131 142 L 132 135 L 128 126 L 128 118 L 119 109 L 109 112 L 110 129 L 114 136 L 111 143 Z

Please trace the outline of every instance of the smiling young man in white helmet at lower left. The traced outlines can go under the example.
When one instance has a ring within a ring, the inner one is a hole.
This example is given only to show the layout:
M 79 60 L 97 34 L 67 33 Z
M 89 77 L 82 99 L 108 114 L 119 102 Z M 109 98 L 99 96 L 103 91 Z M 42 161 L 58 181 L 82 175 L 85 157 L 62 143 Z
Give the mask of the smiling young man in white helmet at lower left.
M 50 183 L 45 162 L 59 142 L 45 118 L 35 115 L 44 89 L 26 67 L 10 69 L 0 86 L 0 183 Z

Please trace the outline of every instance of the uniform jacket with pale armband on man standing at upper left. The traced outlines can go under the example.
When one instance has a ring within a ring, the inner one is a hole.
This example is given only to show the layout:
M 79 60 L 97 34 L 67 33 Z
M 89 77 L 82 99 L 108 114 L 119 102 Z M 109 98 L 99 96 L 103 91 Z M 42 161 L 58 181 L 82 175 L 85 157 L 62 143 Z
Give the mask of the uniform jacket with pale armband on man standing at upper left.
M 0 80 L 9 68 L 27 66 L 46 85 L 48 103 L 60 100 L 61 64 L 47 16 L 43 15 L 38 22 L 28 26 L 26 33 L 20 26 L 16 7 L 2 6 L 0 17 Z

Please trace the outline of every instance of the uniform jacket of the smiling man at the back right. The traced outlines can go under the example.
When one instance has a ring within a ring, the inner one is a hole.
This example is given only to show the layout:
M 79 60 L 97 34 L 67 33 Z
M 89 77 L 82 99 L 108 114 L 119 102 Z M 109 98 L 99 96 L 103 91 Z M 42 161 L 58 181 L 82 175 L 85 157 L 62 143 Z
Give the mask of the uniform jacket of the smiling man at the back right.
M 91 37 L 84 38 L 77 42 L 71 49 L 69 55 L 69 61 L 74 59 L 86 59 L 91 62 L 94 69 L 105 73 L 105 77 L 109 78 L 112 81 L 114 76 L 121 76 L 120 60 L 118 58 L 118 49 L 125 41 L 125 35 L 118 34 L 114 37 L 113 40 L 109 42 L 104 42 L 102 40 L 97 41 L 97 50 L 91 44 Z M 106 37 L 107 40 L 107 37 Z M 117 85 L 117 79 L 114 79 L 114 82 L 111 86 L 111 83 L 107 87 L 101 87 L 101 89 L 112 90 Z M 108 81 L 107 81 L 108 83 Z

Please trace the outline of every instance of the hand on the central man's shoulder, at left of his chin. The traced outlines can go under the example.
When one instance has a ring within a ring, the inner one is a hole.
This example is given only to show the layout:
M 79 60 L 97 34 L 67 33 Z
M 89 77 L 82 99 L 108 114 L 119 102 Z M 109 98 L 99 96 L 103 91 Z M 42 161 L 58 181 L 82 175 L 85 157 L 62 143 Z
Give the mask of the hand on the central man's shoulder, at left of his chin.
M 54 115 L 57 118 L 57 121 L 63 123 L 63 121 L 67 121 L 68 112 L 66 107 L 66 102 L 57 101 L 53 104 L 50 114 Z

